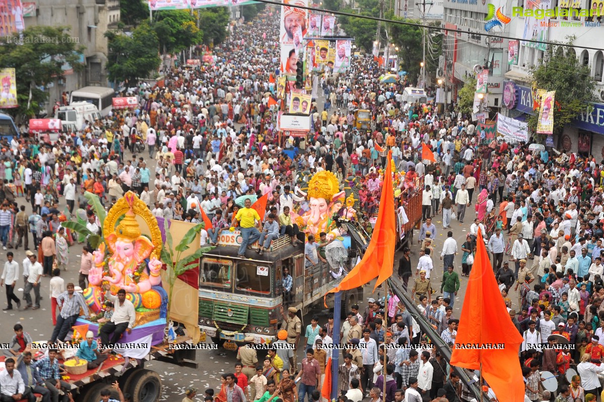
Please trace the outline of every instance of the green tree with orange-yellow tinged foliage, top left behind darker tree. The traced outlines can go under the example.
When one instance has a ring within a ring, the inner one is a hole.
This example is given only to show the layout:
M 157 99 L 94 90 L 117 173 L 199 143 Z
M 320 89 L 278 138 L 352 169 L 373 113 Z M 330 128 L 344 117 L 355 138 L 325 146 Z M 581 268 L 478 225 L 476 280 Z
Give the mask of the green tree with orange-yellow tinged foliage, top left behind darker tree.
M 203 33 L 188 10 L 161 10 L 153 15 L 152 29 L 159 39 L 159 49 L 175 54 L 202 42 Z

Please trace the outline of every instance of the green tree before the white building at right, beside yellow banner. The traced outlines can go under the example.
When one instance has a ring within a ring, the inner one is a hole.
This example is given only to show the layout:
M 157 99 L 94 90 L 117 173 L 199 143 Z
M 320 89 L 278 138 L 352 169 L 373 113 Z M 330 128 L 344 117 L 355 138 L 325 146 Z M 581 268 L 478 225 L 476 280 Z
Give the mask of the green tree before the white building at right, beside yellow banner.
M 567 37 L 567 44 L 571 45 L 574 39 L 574 37 Z M 552 109 L 553 134 L 561 134 L 565 125 L 577 118 L 586 107 L 591 107 L 586 105 L 596 102 L 594 97 L 596 82 L 591 77 L 590 66 L 580 63 L 568 48 L 548 47 L 543 63 L 533 66 L 531 76 L 538 88 L 556 91 L 556 103 Z M 538 112 L 527 118 L 528 129 L 533 134 L 536 132 L 538 119 Z M 539 138 L 541 139 L 544 138 Z

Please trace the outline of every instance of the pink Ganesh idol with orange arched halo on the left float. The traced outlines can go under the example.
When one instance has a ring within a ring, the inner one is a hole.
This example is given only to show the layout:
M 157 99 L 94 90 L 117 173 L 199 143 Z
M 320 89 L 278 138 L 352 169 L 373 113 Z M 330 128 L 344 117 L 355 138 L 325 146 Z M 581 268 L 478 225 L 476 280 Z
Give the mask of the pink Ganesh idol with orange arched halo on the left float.
M 112 294 L 120 289 L 126 291 L 127 299 L 137 309 L 137 323 L 159 318 L 159 308 L 166 296 L 161 288 L 162 263 L 158 260 L 162 241 L 157 221 L 148 212 L 147 206 L 132 192 L 127 192 L 109 210 L 103 224 L 104 243 L 92 253 L 94 267 L 88 276 L 89 287 L 84 291 L 92 311 L 100 310 L 102 287 L 109 285 Z M 151 239 L 141 234 L 137 216 L 147 223 Z

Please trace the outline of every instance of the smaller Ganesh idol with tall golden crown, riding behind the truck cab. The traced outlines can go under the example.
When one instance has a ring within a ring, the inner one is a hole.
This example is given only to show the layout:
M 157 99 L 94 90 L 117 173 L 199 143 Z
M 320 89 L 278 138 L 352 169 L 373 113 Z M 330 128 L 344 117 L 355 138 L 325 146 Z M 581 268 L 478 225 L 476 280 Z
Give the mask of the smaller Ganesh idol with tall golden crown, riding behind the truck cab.
M 337 238 L 341 233 L 332 219 L 333 214 L 338 213 L 346 219 L 356 218 L 356 211 L 350 203 L 345 203 L 345 192 L 339 190 L 338 179 L 328 170 L 321 170 L 310 179 L 307 199 L 309 210 L 296 219 L 306 235 L 318 238 L 319 233 L 325 232 L 327 239 Z

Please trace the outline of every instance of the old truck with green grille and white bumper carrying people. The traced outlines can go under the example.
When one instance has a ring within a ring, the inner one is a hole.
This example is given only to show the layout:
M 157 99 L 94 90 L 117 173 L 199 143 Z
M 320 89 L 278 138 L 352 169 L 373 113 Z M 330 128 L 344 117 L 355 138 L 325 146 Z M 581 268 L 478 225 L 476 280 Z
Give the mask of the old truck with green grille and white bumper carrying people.
M 335 215 L 332 219 L 349 234 L 345 242 L 349 241 L 350 247 L 342 265 L 350 270 L 356 257 L 367 248 L 367 233 L 354 221 Z M 276 340 L 281 306 L 295 307 L 298 314 L 304 314 L 323 303 L 327 291 L 345 276 L 335 278 L 326 263 L 304 267 L 304 248 L 292 245 L 289 236 L 272 241 L 262 256 L 247 251 L 245 259 L 237 256 L 241 241 L 239 230 L 223 230 L 217 247 L 204 254 L 199 267 L 199 328 L 228 350 L 236 350 L 246 336 L 254 337 L 255 343 Z M 293 280 L 289 294 L 284 294 L 283 288 L 286 269 Z M 361 298 L 362 288 L 345 291 L 341 313 L 350 311 Z M 333 294 L 326 297 L 325 303 L 333 308 Z

